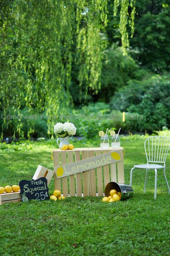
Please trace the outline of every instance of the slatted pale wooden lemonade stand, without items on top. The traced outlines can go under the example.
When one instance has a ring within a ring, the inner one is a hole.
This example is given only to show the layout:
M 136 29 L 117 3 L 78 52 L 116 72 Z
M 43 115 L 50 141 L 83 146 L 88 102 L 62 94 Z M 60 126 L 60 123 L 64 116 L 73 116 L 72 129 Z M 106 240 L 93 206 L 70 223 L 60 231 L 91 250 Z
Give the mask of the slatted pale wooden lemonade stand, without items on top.
M 55 189 L 62 191 L 65 197 L 103 196 L 104 187 L 110 181 L 124 183 L 123 150 L 122 147 L 110 147 L 105 150 L 101 148 L 74 148 L 67 151 L 55 149 L 53 151 Z M 117 156 L 113 157 L 113 153 Z M 104 165 L 99 162 L 103 154 L 108 160 L 107 163 L 102 160 Z M 86 161 L 82 161 L 85 159 Z M 78 166 L 76 162 L 79 163 Z

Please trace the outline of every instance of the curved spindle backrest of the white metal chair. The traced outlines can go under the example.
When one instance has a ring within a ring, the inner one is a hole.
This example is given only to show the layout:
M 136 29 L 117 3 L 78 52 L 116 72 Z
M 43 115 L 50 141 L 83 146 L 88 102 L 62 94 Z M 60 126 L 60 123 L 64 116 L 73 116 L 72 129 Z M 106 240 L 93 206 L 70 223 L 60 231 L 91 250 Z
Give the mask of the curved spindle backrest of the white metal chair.
M 145 140 L 147 162 L 164 163 L 170 148 L 170 139 L 164 136 L 152 136 Z

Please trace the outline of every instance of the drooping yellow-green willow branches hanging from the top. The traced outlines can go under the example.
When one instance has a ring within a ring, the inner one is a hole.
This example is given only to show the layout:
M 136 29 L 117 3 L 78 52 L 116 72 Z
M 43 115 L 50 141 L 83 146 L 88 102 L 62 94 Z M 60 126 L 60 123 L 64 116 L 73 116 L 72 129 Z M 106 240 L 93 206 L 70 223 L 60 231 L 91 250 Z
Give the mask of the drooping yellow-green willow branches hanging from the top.
M 28 113 L 46 112 L 48 132 L 52 134 L 52 124 L 72 102 L 69 86 L 73 62 L 79 66 L 80 91 L 84 83 L 86 93 L 89 87 L 97 93 L 103 50 L 107 46 L 107 5 L 107 0 L 1 1 L 2 113 L 18 116 L 25 108 Z M 122 45 L 126 47 L 128 20 L 132 33 L 134 30 L 134 1 L 114 0 L 114 15 L 119 8 Z M 19 117 L 3 119 L 4 126 L 14 127 L 14 136 L 23 131 Z M 32 132 L 30 126 L 28 137 Z

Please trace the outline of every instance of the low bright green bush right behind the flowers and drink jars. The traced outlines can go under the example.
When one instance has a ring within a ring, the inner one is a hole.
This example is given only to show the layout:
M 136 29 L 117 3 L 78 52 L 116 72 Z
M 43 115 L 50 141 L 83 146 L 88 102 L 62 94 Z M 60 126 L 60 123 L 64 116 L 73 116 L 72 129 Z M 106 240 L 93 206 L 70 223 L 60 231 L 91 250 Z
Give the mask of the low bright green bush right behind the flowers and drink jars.
M 109 105 L 103 102 L 91 103 L 81 109 L 74 110 L 70 115 L 70 122 L 77 128 L 76 135 L 86 138 L 98 136 L 99 131 L 111 130 L 122 132 L 125 130 L 125 123 L 122 121 L 122 113 L 118 110 L 110 111 Z

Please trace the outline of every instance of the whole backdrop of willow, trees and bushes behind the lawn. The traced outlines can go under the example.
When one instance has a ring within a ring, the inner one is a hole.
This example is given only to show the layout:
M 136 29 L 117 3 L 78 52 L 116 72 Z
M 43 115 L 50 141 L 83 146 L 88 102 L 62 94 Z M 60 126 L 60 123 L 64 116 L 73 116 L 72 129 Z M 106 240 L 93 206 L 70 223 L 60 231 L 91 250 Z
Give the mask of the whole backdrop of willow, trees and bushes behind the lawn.
M 20 115 L 0 119 L 5 136 L 48 137 L 57 121 L 84 136 L 169 127 L 170 1 L 137 0 L 129 41 L 134 1 L 122 2 L 1 1 L 0 113 Z

